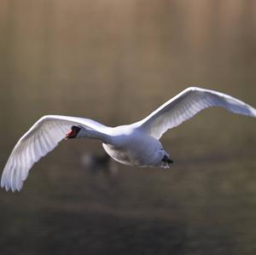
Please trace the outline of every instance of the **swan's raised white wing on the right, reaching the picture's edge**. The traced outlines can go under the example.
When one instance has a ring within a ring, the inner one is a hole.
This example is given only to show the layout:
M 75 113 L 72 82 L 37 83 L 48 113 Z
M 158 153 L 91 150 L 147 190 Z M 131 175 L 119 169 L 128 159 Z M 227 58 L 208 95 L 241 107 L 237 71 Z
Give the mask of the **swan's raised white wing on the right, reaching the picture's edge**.
M 137 123 L 137 128 L 154 138 L 180 125 L 207 107 L 224 107 L 231 113 L 256 117 L 256 109 L 232 96 L 201 88 L 190 87 Z

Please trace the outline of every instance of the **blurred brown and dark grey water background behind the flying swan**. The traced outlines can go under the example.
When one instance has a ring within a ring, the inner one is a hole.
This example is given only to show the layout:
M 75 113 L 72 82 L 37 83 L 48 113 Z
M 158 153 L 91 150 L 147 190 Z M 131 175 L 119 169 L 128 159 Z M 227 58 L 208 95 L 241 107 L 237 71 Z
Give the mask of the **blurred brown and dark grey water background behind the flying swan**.
M 44 114 L 130 124 L 189 85 L 256 107 L 255 71 L 253 0 L 1 0 L 1 169 Z M 0 191 L 1 254 L 255 254 L 255 124 L 203 111 L 162 137 L 171 171 L 61 142 Z

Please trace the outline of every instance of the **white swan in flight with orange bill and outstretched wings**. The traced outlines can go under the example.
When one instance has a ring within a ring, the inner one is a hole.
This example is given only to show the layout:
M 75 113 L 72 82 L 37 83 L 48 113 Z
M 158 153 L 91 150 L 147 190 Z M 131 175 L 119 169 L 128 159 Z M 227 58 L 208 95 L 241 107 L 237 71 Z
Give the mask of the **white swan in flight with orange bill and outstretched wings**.
M 231 113 L 256 117 L 256 109 L 223 93 L 190 87 L 166 101 L 148 117 L 131 125 L 108 127 L 91 119 L 46 115 L 32 125 L 15 145 L 3 169 L 1 187 L 20 190 L 28 171 L 63 138 L 88 137 L 125 165 L 168 167 L 172 163 L 160 137 L 207 107 L 224 107 Z

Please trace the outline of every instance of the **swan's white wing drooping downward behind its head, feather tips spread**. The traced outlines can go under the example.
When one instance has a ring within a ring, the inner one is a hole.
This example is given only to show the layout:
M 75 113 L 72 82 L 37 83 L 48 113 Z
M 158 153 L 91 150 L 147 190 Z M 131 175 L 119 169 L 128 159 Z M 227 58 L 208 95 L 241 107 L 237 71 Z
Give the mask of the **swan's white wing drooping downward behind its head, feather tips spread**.
M 34 163 L 52 151 L 65 137 L 72 125 L 79 125 L 84 130 L 102 130 L 104 125 L 91 119 L 46 115 L 32 125 L 22 136 L 9 156 L 3 169 L 1 187 L 12 191 L 20 190 L 28 171 Z

